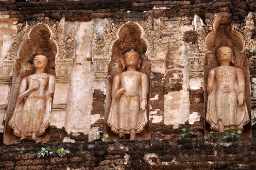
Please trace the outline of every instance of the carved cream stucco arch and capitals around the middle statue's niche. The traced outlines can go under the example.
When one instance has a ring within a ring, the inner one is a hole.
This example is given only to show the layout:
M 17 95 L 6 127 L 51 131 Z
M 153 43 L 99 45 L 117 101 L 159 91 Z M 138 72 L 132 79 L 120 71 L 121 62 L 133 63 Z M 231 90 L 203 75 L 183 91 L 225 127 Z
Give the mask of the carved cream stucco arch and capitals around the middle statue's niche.
M 160 19 L 151 16 L 141 22 L 128 21 L 124 24 L 115 24 L 109 18 L 104 19 L 103 33 L 96 31 L 93 36 L 92 62 L 94 68 L 94 81 L 105 81 L 108 64 L 112 56 L 112 47 L 119 39 L 120 29 L 129 23 L 140 28 L 141 36 L 147 46 L 145 55 L 148 56 L 152 71 L 164 73 L 165 57 L 168 51 L 169 37 L 161 37 Z

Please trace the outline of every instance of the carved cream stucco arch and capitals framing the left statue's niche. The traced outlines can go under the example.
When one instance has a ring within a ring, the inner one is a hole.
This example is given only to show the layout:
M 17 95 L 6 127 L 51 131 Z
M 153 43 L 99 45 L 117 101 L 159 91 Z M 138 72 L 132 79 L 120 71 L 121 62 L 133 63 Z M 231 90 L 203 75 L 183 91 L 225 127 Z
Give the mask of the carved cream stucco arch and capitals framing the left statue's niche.
M 51 33 L 50 39 L 53 40 L 57 47 L 57 53 L 55 56 L 57 80 L 58 77 L 62 77 L 63 79 L 63 76 L 69 76 L 74 58 L 74 29 L 64 37 L 64 24 L 65 18 L 62 18 L 54 24 L 40 21 L 26 22 L 26 24 L 20 28 L 18 33 L 13 35 L 14 43 L 9 49 L 0 68 L 1 77 L 10 79 L 10 77 L 13 76 L 13 69 L 17 59 L 19 59 L 19 51 L 20 47 L 22 47 L 22 43 L 24 43 L 26 39 L 30 39 L 31 31 L 40 25 L 44 25 L 48 28 Z

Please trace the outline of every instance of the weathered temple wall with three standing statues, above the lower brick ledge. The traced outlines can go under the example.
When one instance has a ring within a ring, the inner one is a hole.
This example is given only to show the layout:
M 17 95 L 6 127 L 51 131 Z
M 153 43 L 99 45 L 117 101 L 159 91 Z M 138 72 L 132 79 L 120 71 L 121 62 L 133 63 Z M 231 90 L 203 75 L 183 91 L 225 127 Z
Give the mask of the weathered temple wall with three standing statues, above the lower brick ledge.
M 1 143 L 256 136 L 255 1 L 0 5 Z

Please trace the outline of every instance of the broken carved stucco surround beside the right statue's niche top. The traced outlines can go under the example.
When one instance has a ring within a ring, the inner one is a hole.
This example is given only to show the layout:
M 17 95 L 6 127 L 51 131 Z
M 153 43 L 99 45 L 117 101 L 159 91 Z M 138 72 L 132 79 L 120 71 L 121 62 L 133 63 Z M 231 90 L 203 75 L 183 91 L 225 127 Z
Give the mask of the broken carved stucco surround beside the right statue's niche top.
M 201 64 L 199 66 L 198 63 L 204 63 L 205 53 L 211 52 L 208 50 L 209 48 L 207 47 L 206 40 L 211 39 L 211 37 L 216 34 L 218 25 L 225 19 L 226 18 L 221 15 L 214 15 L 206 18 L 204 24 L 203 20 L 199 16 L 194 16 L 193 26 L 196 31 L 198 43 L 187 44 L 190 77 L 203 77 L 203 65 Z M 254 39 L 251 39 L 253 25 L 254 21 L 252 13 L 248 14 L 243 24 L 232 25 L 232 34 L 242 40 L 241 46 L 243 51 L 255 51 L 256 49 L 256 42 Z

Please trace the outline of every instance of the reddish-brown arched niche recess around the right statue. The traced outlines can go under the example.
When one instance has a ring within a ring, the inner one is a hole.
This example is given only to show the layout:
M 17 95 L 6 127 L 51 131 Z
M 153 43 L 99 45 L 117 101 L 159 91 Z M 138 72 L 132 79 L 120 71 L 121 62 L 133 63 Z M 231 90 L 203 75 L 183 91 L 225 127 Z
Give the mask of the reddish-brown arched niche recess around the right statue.
M 207 109 L 207 80 L 209 71 L 212 68 L 216 68 L 219 65 L 217 60 L 217 51 L 220 47 L 227 46 L 233 51 L 235 56 L 235 63 L 231 63 L 231 66 L 241 68 L 245 74 L 245 102 L 248 108 L 249 116 L 251 119 L 251 105 L 250 105 L 250 74 L 248 67 L 248 58 L 244 52 L 245 38 L 243 34 L 234 30 L 228 17 L 217 16 L 213 20 L 213 31 L 205 36 L 205 60 L 204 60 L 204 108 L 205 115 Z M 205 121 L 205 135 L 208 135 L 210 131 L 210 124 Z M 244 126 L 243 136 L 252 136 L 251 122 Z

